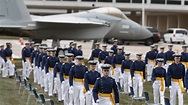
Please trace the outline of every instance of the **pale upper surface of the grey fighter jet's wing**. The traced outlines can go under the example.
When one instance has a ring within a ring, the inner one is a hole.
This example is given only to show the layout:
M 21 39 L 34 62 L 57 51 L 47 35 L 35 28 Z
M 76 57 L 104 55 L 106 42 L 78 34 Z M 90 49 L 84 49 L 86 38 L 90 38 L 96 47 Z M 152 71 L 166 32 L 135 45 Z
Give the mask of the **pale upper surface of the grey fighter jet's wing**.
M 82 17 L 55 17 L 47 16 L 37 18 L 34 21 L 38 23 L 57 23 L 57 24 L 90 24 L 90 25 L 104 25 L 108 26 L 109 23 L 99 19 L 82 18 Z

